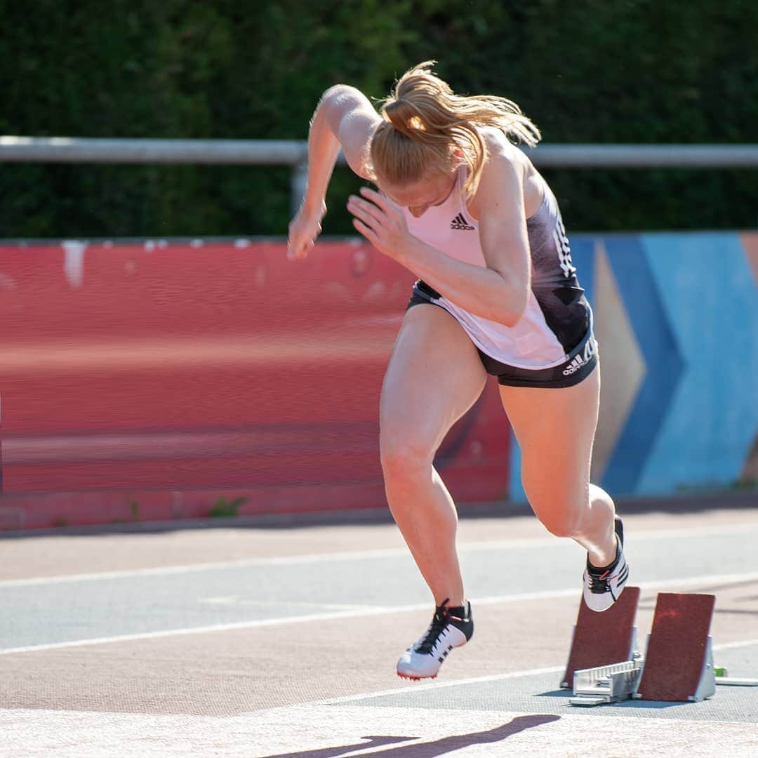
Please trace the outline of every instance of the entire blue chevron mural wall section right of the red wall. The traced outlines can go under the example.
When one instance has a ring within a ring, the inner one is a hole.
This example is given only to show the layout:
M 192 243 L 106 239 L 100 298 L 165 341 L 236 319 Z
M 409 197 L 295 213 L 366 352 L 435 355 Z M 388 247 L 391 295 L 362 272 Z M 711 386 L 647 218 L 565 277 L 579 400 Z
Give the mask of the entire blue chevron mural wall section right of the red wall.
M 603 371 L 593 481 L 662 495 L 758 478 L 758 233 L 575 236 L 572 258 Z

